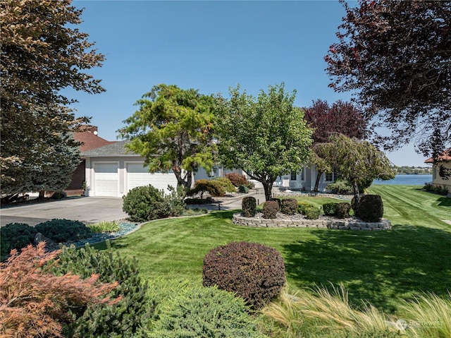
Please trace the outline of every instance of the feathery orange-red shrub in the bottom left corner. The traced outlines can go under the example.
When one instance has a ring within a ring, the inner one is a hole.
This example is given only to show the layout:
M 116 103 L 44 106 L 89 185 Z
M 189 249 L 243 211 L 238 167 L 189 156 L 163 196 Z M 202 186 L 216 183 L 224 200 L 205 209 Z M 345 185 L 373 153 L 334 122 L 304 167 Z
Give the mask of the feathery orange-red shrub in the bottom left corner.
M 14 250 L 0 264 L 1 337 L 63 337 L 64 325 L 92 304 L 113 305 L 106 298 L 117 283 L 99 284 L 99 276 L 80 279 L 75 274 L 55 276 L 47 262 L 58 251 L 47 253 L 44 243 Z

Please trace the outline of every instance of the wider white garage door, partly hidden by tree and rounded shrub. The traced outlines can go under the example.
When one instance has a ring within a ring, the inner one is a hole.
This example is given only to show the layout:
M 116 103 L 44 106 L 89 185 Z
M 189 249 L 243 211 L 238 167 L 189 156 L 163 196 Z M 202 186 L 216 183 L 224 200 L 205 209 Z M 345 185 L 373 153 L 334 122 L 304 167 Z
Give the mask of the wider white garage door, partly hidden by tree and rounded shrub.
M 172 171 L 168 173 L 156 172 L 150 174 L 144 163 L 127 164 L 127 189 L 130 191 L 137 186 L 149 186 L 152 184 L 155 188 L 168 192 L 168 185 L 177 187 L 177 179 Z

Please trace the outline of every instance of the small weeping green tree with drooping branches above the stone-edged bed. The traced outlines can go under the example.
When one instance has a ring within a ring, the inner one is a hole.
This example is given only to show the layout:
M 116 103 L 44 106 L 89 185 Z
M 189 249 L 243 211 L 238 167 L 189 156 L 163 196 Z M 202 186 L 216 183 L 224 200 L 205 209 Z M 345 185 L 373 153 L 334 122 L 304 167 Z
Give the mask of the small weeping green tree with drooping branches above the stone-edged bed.
M 345 135 L 331 135 L 329 143 L 319 143 L 330 166 L 352 185 L 354 198 L 359 203 L 359 187 L 368 186 L 374 179 L 394 179 L 396 171 L 390 160 L 374 145 Z

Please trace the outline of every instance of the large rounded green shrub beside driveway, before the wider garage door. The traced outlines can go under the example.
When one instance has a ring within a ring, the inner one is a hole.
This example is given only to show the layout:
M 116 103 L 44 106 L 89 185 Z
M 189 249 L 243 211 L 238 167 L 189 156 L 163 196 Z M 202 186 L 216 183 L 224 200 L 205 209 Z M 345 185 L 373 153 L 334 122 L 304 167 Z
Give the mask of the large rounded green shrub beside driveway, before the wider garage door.
M 147 222 L 170 216 L 180 216 L 185 210 L 181 191 L 168 186 L 170 194 L 153 186 L 133 188 L 123 197 L 123 211 L 127 212 L 132 222 Z

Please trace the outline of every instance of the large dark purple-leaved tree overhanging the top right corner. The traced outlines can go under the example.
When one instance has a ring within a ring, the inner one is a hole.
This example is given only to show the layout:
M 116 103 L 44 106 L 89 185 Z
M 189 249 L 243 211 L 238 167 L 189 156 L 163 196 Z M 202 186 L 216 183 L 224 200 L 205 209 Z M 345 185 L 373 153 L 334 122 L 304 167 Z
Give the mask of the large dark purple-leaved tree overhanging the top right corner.
M 353 91 L 386 150 L 416 138 L 435 157 L 451 143 L 451 1 L 344 3 L 339 42 L 325 56 L 330 87 Z

